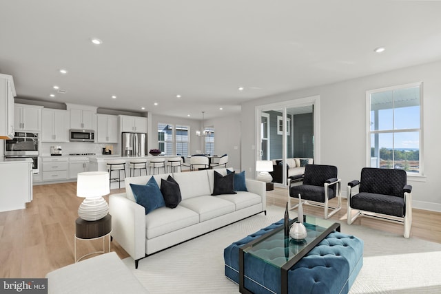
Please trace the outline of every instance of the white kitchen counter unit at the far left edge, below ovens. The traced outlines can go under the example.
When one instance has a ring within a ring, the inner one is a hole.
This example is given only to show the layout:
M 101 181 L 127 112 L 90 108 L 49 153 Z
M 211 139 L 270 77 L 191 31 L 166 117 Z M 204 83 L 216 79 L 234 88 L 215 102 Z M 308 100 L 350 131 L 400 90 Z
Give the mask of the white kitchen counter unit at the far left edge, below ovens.
M 0 211 L 25 209 L 32 201 L 32 159 L 0 159 Z

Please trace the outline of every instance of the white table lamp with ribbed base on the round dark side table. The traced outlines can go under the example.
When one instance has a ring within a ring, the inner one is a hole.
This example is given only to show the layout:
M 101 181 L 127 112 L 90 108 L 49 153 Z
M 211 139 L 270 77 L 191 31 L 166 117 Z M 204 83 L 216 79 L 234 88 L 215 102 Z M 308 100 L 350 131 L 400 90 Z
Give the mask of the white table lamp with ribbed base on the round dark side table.
M 76 180 L 76 196 L 84 197 L 78 209 L 83 220 L 101 220 L 109 212 L 109 205 L 102 196 L 110 193 L 109 173 L 107 171 L 88 171 L 79 173 Z

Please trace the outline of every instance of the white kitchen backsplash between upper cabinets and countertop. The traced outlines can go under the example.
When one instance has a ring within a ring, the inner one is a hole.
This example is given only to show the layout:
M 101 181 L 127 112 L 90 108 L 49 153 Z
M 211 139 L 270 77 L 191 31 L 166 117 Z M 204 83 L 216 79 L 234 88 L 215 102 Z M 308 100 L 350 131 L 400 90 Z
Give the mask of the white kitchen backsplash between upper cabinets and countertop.
M 114 154 L 120 154 L 120 150 L 117 144 L 106 143 L 83 143 L 83 142 L 70 142 L 70 143 L 41 143 L 40 144 L 40 156 L 50 156 L 51 146 L 61 146 L 62 154 L 103 154 L 103 148 L 107 146 L 113 146 Z

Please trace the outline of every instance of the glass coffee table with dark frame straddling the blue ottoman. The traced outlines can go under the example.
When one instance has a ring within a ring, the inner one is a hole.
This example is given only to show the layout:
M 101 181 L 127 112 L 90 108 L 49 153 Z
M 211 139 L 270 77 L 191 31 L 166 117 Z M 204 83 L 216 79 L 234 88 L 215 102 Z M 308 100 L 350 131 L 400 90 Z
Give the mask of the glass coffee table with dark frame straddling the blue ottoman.
M 289 225 L 297 221 L 297 218 L 291 220 Z M 288 292 L 288 271 L 303 258 L 311 249 L 317 246 L 329 233 L 333 231 L 340 232 L 340 224 L 338 222 L 330 222 L 322 218 L 314 216 L 303 216 L 303 224 L 307 229 L 307 237 L 302 241 L 285 238 L 284 226 L 269 231 L 265 235 L 260 236 L 256 240 L 249 242 L 239 248 L 239 291 L 240 293 L 252 293 L 245 288 L 245 254 L 249 254 L 252 258 L 258 258 L 263 262 L 271 264 L 280 269 L 280 293 Z M 271 250 L 271 258 L 267 251 Z M 274 253 L 276 252 L 276 253 Z M 276 254 L 276 256 L 274 255 Z M 278 256 L 280 255 L 280 256 Z

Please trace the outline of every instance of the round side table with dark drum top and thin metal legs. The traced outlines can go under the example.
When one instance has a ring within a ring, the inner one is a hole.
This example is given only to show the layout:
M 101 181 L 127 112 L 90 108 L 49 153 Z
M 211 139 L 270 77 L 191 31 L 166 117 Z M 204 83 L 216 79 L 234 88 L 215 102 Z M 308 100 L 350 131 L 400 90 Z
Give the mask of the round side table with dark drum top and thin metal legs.
M 110 233 L 112 233 L 112 216 L 107 213 L 107 216 L 101 220 L 88 221 L 82 218 L 77 218 L 75 221 L 75 236 L 74 236 L 74 258 L 75 263 L 82 258 L 96 253 L 105 253 L 105 237 L 108 236 L 108 249 L 110 252 Z M 95 251 L 85 254 L 81 258 L 76 259 L 76 240 L 96 240 L 103 238 L 103 251 Z

